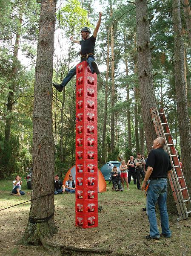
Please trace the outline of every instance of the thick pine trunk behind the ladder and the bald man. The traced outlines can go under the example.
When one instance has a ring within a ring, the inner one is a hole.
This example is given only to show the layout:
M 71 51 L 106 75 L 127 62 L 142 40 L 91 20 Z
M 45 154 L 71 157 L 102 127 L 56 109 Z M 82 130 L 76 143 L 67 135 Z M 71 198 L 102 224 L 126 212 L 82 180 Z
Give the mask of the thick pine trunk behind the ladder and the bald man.
M 157 137 L 150 116 L 150 109 L 156 108 L 157 102 L 154 95 L 153 75 L 151 67 L 151 49 L 147 0 L 136 0 L 136 20 L 138 74 L 141 91 L 140 99 L 142 108 L 142 118 L 145 130 L 147 151 L 150 152 L 153 145 L 153 140 L 156 139 Z M 174 202 L 170 186 L 168 186 L 167 207 L 169 213 L 177 213 L 176 204 Z

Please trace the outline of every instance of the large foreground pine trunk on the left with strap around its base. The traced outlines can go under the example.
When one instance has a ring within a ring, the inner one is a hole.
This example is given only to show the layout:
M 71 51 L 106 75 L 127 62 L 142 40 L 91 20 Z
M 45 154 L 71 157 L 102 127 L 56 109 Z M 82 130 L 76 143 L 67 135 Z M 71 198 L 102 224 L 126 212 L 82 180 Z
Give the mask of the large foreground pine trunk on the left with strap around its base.
M 56 232 L 54 224 L 54 138 L 52 130 L 52 72 L 56 0 L 41 0 L 39 39 L 34 85 L 33 175 L 29 218 L 51 218 L 42 223 L 28 221 L 23 242 L 40 245 Z

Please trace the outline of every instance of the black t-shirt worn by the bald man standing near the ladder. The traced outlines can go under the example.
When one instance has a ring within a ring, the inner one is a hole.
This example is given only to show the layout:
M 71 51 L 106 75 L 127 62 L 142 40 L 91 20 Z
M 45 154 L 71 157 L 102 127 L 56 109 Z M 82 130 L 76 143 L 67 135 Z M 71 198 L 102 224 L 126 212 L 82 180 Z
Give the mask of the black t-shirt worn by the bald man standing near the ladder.
M 167 172 L 172 169 L 170 156 L 163 148 L 152 149 L 148 155 L 146 166 L 153 168 L 152 178 L 167 177 Z

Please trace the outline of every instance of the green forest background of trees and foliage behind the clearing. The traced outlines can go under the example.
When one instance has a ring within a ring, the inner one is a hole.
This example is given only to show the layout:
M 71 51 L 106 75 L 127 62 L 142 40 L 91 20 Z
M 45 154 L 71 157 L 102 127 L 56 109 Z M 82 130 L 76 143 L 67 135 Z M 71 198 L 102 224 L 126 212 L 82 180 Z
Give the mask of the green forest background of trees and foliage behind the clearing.
M 32 159 L 34 70 L 40 3 L 35 0 L 0 2 L 0 178 L 18 173 L 21 162 Z M 184 43 L 185 95 L 191 115 L 190 39 L 181 6 Z M 97 2 L 96 2 L 97 3 Z M 98 5 L 98 3 L 97 3 Z M 99 9 L 89 1 L 57 1 L 53 80 L 60 83 L 80 61 L 80 29 L 93 31 Z M 147 155 L 137 67 L 136 10 L 131 1 L 100 1 L 102 23 L 97 36 L 98 163 Z M 177 95 L 174 83 L 174 29 L 172 1 L 148 2 L 150 46 L 157 108 L 164 108 L 176 148 L 180 152 Z M 55 167 L 64 174 L 75 164 L 75 78 L 62 93 L 53 90 Z M 184 119 L 184 117 L 183 117 Z M 148 127 L 149 128 L 149 127 Z M 185 134 L 186 137 L 186 134 Z M 181 152 L 180 152 L 181 153 Z

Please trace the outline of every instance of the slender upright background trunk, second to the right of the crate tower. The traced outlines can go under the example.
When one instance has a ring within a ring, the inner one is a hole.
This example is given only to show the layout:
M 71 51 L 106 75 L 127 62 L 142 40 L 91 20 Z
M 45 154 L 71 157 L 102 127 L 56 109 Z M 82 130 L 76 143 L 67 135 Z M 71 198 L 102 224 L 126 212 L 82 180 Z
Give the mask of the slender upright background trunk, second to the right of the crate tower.
M 112 6 L 110 6 L 110 16 L 113 15 Z M 111 153 L 115 150 L 115 132 L 114 132 L 114 100 L 115 100 L 115 80 L 114 80 L 114 24 L 111 24 Z

